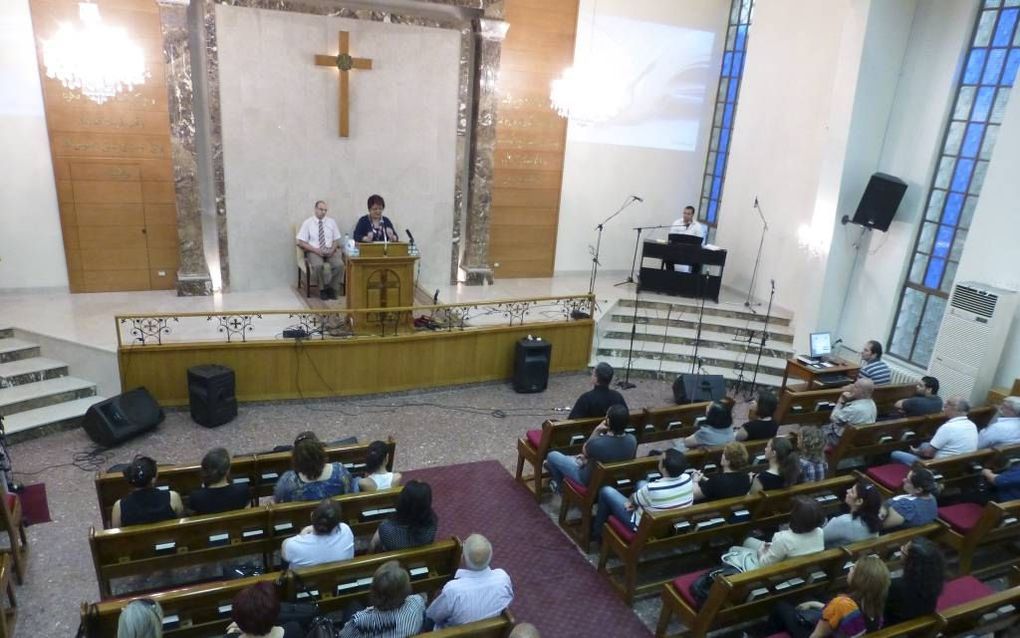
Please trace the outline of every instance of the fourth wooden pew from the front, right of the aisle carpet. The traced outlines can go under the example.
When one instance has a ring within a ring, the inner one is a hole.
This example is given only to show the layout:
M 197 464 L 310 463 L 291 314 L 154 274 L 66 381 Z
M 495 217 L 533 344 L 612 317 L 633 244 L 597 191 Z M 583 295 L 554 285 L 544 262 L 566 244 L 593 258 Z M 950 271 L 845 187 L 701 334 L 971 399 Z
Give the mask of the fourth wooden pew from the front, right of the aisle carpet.
M 691 585 L 709 570 L 683 574 L 662 586 L 662 610 L 655 635 L 665 637 L 674 617 L 686 626 L 682 635 L 702 638 L 719 628 L 761 620 L 783 600 L 823 599 L 846 562 L 846 552 L 834 548 L 743 574 L 718 576 L 700 607 Z

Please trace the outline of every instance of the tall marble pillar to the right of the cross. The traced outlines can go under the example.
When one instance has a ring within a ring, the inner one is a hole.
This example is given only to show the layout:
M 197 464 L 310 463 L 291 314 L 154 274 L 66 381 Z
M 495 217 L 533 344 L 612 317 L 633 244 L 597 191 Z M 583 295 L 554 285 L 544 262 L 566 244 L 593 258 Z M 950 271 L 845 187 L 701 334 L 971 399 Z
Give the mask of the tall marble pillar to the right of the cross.
M 500 51 L 510 23 L 502 17 L 502 4 L 487 10 L 475 20 L 474 117 L 471 131 L 468 211 L 461 269 L 468 285 L 492 283 L 489 261 L 489 222 L 493 201 L 493 161 L 496 154 L 496 124 L 499 95 L 497 85 Z M 493 17 L 490 17 L 493 16 Z

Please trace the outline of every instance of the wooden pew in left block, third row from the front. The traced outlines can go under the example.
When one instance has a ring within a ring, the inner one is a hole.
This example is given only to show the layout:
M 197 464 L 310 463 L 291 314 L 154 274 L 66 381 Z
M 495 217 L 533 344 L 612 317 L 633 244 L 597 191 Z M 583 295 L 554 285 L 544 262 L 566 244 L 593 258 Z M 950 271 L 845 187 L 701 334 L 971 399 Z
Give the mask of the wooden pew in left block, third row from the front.
M 431 594 L 442 588 L 443 584 L 456 574 L 460 563 L 460 541 L 453 538 L 424 547 L 372 554 L 344 562 L 316 566 L 308 568 L 308 570 L 316 571 L 311 577 L 317 579 L 310 583 L 313 585 L 312 588 L 317 587 L 322 595 L 328 595 L 330 590 L 327 584 L 329 582 L 357 581 L 363 577 L 365 566 L 368 563 L 374 565 L 368 573 L 368 578 L 371 578 L 371 574 L 379 565 L 387 560 L 397 559 L 409 570 L 416 570 L 416 574 L 411 578 L 411 587 L 414 592 Z M 419 568 L 423 568 L 423 570 L 419 570 Z M 120 615 L 120 609 L 132 600 L 151 598 L 159 602 L 166 617 L 163 625 L 164 637 L 218 637 L 222 636 L 226 631 L 226 626 L 231 623 L 231 602 L 234 596 L 242 589 L 260 582 L 277 583 L 283 600 L 291 602 L 307 600 L 306 597 L 298 597 L 298 594 L 304 592 L 295 581 L 292 573 L 273 572 L 262 576 L 175 588 L 147 596 L 129 596 L 98 603 L 83 603 L 82 625 L 86 629 L 87 638 L 114 638 L 117 633 L 117 618 Z M 323 598 L 322 604 L 328 609 L 339 608 L 339 603 L 335 598 L 336 596 Z M 358 600 L 367 604 L 368 587 L 358 587 L 356 591 L 347 591 L 344 599 Z

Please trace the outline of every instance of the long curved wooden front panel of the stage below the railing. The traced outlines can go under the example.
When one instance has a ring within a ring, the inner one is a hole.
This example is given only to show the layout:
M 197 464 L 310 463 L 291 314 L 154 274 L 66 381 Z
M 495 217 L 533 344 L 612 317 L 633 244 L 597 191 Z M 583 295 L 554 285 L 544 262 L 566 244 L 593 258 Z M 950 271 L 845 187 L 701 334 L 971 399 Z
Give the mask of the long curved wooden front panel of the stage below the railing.
M 347 396 L 510 379 L 514 344 L 529 334 L 553 345 L 552 372 L 588 365 L 591 320 L 387 338 L 250 341 L 121 347 L 121 387 L 145 386 L 163 405 L 188 403 L 192 365 L 216 361 L 237 375 L 242 401 Z

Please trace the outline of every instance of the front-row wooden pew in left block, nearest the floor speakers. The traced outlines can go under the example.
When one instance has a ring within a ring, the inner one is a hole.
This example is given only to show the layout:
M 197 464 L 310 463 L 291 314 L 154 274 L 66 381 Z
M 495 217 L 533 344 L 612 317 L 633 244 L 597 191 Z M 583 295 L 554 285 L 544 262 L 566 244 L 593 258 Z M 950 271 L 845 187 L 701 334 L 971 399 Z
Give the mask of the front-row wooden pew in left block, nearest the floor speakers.
M 387 444 L 390 446 L 387 470 L 392 472 L 397 444 L 392 438 L 387 440 Z M 363 470 L 364 457 L 367 452 L 367 443 L 338 445 L 326 448 L 326 459 L 328 462 L 343 462 L 356 474 Z M 234 477 L 235 483 L 247 483 L 251 486 L 253 505 L 258 504 L 260 497 L 272 496 L 276 479 L 290 469 L 290 452 L 248 454 L 235 456 L 231 459 L 231 476 Z M 133 488 L 119 472 L 97 472 L 95 484 L 103 527 L 109 528 L 112 525 L 110 517 L 113 504 L 123 498 Z M 187 505 L 188 495 L 202 487 L 202 465 L 201 463 L 160 465 L 156 486 L 180 493 Z

